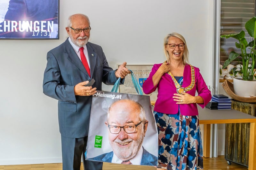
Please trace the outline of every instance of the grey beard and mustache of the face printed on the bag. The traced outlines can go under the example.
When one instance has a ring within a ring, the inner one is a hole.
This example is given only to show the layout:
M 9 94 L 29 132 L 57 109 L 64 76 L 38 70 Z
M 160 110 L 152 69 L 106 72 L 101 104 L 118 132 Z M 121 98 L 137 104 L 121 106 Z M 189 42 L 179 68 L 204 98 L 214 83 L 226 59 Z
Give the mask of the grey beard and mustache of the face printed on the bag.
M 144 138 L 144 133 L 141 133 L 137 141 L 133 141 L 132 139 L 126 139 L 126 140 L 119 140 L 116 139 L 115 141 L 111 142 L 109 141 L 113 152 L 116 154 L 116 156 L 123 161 L 125 160 L 130 160 L 133 157 L 136 156 L 137 152 L 139 151 L 142 142 Z M 130 145 L 127 148 L 120 148 L 118 143 L 127 143 L 127 142 L 132 142 L 132 145 Z

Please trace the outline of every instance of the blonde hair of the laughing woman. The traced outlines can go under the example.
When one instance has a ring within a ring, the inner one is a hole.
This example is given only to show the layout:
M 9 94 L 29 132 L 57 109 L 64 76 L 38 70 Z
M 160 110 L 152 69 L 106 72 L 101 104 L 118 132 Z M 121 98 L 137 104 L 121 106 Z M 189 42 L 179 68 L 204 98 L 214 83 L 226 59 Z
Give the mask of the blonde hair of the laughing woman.
M 170 33 L 170 34 L 166 35 L 166 37 L 164 38 L 164 55 L 167 59 L 167 62 L 170 63 L 170 55 L 169 55 L 168 51 L 166 50 L 166 45 L 167 45 L 170 37 L 179 38 L 185 44 L 185 47 L 184 47 L 185 49 L 184 49 L 184 53 L 182 56 L 182 61 L 183 61 L 183 64 L 185 65 L 186 63 L 188 63 L 188 47 L 187 47 L 185 38 L 182 35 L 180 35 L 179 33 Z

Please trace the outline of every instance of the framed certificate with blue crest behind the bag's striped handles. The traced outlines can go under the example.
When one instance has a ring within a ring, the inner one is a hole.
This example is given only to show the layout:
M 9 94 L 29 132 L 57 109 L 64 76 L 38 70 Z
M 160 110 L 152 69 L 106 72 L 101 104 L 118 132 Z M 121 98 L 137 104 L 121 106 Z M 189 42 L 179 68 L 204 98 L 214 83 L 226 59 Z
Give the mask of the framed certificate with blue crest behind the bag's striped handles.
M 117 68 L 120 66 L 121 64 L 117 64 Z M 148 78 L 149 73 L 151 72 L 151 69 L 153 67 L 153 64 L 127 64 L 126 68 L 128 68 L 129 70 L 132 70 L 132 72 L 134 73 L 137 81 L 140 84 L 140 88 L 141 91 L 142 90 L 142 85 L 144 83 L 144 81 Z M 127 76 L 125 76 L 125 81 L 123 85 L 119 85 L 119 92 L 120 93 L 127 93 L 127 94 L 138 94 L 134 88 L 134 85 L 132 83 L 132 77 L 131 74 L 128 74 Z M 145 94 L 143 92 L 143 95 L 149 95 L 150 96 L 150 100 L 151 101 L 155 101 L 157 99 L 157 89 L 155 92 L 152 92 L 151 94 Z

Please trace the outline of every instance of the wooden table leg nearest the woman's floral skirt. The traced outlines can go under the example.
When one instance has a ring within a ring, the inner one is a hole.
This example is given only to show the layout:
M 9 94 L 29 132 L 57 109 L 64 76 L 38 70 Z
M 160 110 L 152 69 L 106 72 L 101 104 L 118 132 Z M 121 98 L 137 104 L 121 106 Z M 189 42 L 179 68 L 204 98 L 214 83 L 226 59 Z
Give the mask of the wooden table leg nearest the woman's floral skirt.
M 204 124 L 204 146 L 203 146 L 203 156 L 205 158 L 210 158 L 211 149 L 211 124 Z

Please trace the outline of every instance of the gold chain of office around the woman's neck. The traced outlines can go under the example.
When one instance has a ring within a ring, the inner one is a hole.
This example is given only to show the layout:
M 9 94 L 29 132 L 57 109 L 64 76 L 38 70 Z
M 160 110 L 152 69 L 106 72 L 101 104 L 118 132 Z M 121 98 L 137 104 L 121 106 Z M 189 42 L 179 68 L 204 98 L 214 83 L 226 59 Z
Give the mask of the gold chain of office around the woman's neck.
M 191 83 L 188 87 L 181 87 L 180 84 L 177 82 L 177 80 L 174 78 L 174 76 L 172 75 L 172 73 L 170 71 L 167 72 L 167 74 L 169 74 L 172 77 L 172 81 L 174 82 L 174 85 L 176 87 L 177 93 L 181 94 L 181 92 L 188 92 L 190 90 L 193 89 L 193 87 L 195 86 L 195 68 L 194 66 L 188 64 L 191 68 Z

